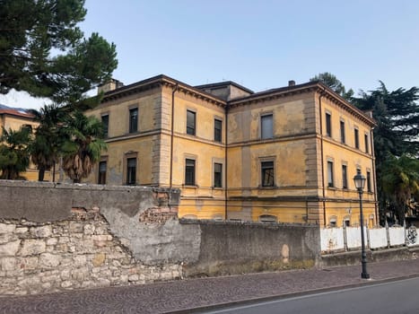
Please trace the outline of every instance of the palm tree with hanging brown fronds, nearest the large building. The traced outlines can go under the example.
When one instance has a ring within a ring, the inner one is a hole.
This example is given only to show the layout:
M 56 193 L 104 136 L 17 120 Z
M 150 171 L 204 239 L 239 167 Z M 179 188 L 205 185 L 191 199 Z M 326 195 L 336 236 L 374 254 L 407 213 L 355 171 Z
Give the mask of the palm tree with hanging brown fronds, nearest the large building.
M 80 183 L 100 161 L 100 153 L 107 149 L 103 141 L 103 126 L 98 118 L 86 117 L 75 111 L 62 128 L 65 141 L 63 169 L 74 183 Z

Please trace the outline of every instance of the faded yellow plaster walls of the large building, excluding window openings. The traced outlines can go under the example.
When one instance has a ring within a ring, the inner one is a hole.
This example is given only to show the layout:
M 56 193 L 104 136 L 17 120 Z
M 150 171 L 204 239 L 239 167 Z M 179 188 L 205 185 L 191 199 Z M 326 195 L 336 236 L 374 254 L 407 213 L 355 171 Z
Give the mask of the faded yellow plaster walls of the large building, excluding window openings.
M 277 222 L 336 221 L 341 225 L 345 219 L 351 224 L 359 221 L 353 183 L 356 169 L 364 175 L 371 170 L 374 181 L 371 146 L 365 153 L 363 143 L 371 121 L 362 122 L 347 106 L 333 97 L 321 98 L 311 89 L 243 100 L 226 114 L 223 100 L 212 100 L 189 87 L 175 89 L 174 84 L 162 83 L 129 94 L 121 92 L 121 97 L 109 98 L 87 114 L 97 118 L 109 115 L 109 149 L 103 153 L 103 160 L 108 162 L 107 183 L 126 184 L 127 154 L 135 155 L 136 184 L 180 188 L 179 217 L 258 221 L 269 216 Z M 128 114 L 133 107 L 139 110 L 138 132 L 129 134 Z M 195 135 L 187 134 L 187 110 L 196 112 Z M 325 135 L 326 112 L 332 117 L 331 137 Z M 266 113 L 273 114 L 274 135 L 261 139 L 260 118 Z M 222 143 L 214 141 L 214 118 L 223 121 Z M 340 143 L 340 119 L 345 120 L 345 144 Z M 360 149 L 354 148 L 354 126 L 359 129 Z M 186 159 L 196 161 L 193 186 L 185 184 Z M 274 187 L 261 187 L 260 163 L 267 160 L 275 164 Z M 327 187 L 327 161 L 334 162 L 332 188 Z M 223 164 L 222 188 L 214 188 L 214 162 Z M 346 189 L 341 186 L 342 162 L 348 170 Z M 88 181 L 97 180 L 96 167 Z M 373 215 L 371 224 L 375 224 L 374 192 L 364 193 L 364 200 L 365 219 Z

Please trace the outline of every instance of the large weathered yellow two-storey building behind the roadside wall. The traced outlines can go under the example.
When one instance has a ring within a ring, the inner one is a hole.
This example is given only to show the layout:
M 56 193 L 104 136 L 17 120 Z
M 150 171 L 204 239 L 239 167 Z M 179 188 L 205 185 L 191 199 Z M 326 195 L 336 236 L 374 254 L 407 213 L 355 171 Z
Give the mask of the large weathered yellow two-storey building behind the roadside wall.
M 165 75 L 104 86 L 109 148 L 89 181 L 181 189 L 179 217 L 377 224 L 373 119 L 322 83 L 252 92 Z

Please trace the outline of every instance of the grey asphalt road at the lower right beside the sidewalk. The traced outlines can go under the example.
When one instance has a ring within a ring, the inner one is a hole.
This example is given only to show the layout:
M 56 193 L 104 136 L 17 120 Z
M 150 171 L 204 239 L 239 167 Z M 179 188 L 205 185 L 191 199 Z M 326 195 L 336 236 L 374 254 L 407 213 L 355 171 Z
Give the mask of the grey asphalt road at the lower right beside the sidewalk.
M 419 313 L 419 277 L 206 311 L 207 314 Z

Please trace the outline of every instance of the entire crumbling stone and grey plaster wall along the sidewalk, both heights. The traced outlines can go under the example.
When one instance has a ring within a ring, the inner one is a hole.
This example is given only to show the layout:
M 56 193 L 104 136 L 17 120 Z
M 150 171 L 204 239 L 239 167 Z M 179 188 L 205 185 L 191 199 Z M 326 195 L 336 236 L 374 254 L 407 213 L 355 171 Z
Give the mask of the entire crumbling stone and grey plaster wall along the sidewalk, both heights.
M 0 294 L 314 266 L 319 227 L 177 218 L 179 190 L 0 181 Z

